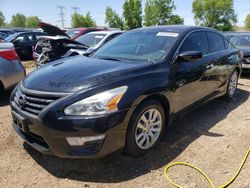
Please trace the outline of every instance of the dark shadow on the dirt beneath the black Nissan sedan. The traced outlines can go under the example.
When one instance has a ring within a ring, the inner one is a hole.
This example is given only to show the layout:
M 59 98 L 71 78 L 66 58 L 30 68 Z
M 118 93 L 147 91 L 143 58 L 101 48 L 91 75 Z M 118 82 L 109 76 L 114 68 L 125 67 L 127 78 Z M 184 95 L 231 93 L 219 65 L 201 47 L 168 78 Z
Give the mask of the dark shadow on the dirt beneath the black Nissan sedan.
M 116 152 L 96 160 L 72 160 L 43 155 L 31 147 L 25 149 L 39 165 L 58 178 L 99 183 L 127 181 L 167 165 L 202 135 L 223 136 L 209 130 L 244 103 L 249 96 L 248 91 L 239 89 L 237 96 L 230 101 L 219 98 L 200 106 L 176 120 L 173 126 L 168 127 L 159 146 L 139 158 Z

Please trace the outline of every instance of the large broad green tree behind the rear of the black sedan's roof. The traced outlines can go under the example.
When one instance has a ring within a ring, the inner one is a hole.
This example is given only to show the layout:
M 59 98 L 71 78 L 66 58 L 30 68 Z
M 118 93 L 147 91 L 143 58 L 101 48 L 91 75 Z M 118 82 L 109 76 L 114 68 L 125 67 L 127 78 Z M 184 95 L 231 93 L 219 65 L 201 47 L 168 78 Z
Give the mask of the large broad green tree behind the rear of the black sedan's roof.
M 193 14 L 196 24 L 221 31 L 232 30 L 237 22 L 233 0 L 194 0 Z

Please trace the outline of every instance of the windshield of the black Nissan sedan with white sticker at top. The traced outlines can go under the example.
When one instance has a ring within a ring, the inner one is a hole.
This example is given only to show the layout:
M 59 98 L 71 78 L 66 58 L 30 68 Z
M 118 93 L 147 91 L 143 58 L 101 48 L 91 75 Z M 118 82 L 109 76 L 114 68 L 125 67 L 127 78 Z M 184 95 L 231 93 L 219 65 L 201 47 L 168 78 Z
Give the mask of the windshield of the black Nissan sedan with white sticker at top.
M 169 52 L 178 36 L 165 31 L 132 31 L 110 41 L 92 57 L 155 62 Z

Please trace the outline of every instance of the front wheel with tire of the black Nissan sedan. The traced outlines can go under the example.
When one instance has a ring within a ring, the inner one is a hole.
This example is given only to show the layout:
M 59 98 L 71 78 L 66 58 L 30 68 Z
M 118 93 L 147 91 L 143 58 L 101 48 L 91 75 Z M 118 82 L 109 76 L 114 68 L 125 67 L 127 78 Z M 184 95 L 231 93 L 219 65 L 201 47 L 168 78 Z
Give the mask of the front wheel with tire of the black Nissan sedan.
M 140 104 L 130 119 L 125 152 L 136 157 L 154 149 L 163 135 L 165 119 L 164 109 L 158 101 L 149 100 Z

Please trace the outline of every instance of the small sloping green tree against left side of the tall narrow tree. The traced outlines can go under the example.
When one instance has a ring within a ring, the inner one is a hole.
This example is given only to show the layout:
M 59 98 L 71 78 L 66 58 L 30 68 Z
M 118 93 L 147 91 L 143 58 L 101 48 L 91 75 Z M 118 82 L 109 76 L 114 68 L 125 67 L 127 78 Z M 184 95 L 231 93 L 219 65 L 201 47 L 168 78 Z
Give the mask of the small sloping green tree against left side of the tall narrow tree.
M 105 23 L 112 28 L 124 28 L 123 19 L 109 6 L 105 11 Z

